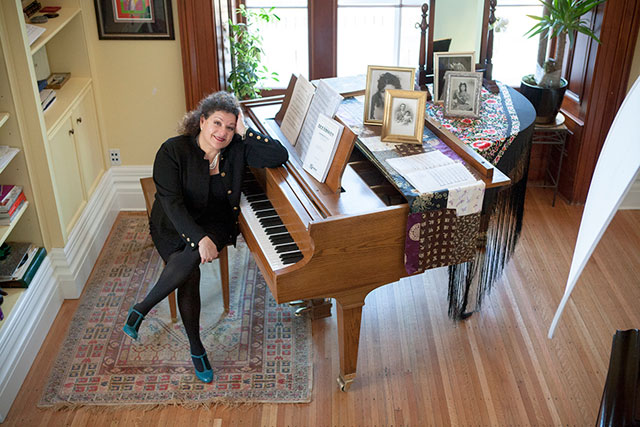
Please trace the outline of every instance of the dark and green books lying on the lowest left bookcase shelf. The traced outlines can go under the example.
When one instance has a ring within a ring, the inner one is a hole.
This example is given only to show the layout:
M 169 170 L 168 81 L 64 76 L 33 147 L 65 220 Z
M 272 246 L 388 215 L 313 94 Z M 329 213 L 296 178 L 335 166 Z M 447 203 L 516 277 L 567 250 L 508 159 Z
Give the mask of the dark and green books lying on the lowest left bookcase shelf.
M 33 243 L 5 242 L 0 248 L 6 257 L 0 260 L 0 286 L 26 288 L 47 256 L 45 248 Z

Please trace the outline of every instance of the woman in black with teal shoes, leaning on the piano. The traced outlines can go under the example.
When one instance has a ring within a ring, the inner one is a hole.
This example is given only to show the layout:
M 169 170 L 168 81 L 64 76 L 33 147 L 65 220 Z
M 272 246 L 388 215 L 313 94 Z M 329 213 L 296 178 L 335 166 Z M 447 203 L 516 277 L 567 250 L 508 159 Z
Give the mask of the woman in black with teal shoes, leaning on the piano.
M 144 316 L 178 289 L 196 376 L 208 383 L 213 370 L 200 340 L 199 264 L 236 242 L 245 166 L 280 166 L 288 155 L 278 141 L 247 130 L 238 101 L 226 92 L 200 101 L 179 133 L 162 144 L 153 164 L 156 198 L 149 228 L 166 266 L 146 298 L 129 309 L 123 329 L 137 339 Z

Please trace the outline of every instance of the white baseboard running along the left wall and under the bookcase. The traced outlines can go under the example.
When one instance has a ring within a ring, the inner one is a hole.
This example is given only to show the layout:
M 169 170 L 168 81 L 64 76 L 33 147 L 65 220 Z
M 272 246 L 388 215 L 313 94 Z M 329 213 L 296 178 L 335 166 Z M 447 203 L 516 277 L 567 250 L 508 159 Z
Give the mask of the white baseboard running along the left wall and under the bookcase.
M 116 166 L 102 177 L 64 248 L 54 248 L 0 329 L 0 422 L 13 400 L 63 299 L 78 298 L 121 210 L 145 210 L 140 178 L 151 166 Z M 43 373 L 48 375 L 48 373 Z

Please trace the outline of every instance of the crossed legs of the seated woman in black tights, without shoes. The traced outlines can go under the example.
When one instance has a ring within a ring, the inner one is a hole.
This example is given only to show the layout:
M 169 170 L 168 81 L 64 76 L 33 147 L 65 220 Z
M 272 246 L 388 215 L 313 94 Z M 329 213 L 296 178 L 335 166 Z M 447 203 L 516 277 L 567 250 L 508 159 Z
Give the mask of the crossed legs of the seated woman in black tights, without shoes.
M 204 346 L 200 340 L 200 252 L 186 247 L 171 254 L 160 278 L 146 298 L 133 306 L 144 316 L 178 289 L 178 309 L 187 332 L 191 354 L 200 356 Z M 134 316 L 131 316 L 134 317 Z M 135 321 L 135 319 L 134 319 Z

